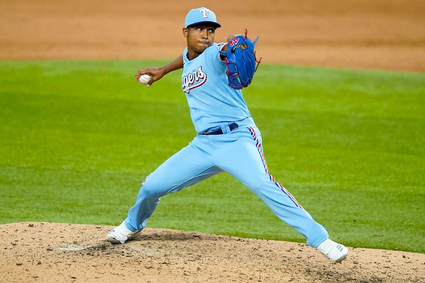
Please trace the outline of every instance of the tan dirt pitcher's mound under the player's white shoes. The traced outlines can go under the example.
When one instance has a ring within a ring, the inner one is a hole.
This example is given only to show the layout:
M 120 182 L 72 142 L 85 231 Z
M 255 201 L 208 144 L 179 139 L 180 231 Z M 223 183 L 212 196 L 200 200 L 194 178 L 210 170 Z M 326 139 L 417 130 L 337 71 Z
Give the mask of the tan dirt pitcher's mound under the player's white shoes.
M 342 264 L 298 243 L 146 228 L 124 245 L 112 226 L 0 225 L 1 282 L 425 282 L 425 254 L 349 248 Z

